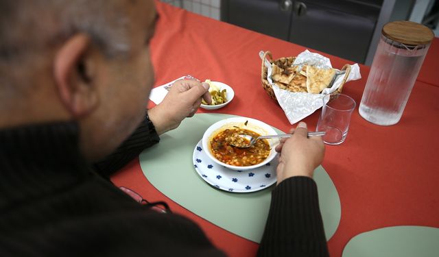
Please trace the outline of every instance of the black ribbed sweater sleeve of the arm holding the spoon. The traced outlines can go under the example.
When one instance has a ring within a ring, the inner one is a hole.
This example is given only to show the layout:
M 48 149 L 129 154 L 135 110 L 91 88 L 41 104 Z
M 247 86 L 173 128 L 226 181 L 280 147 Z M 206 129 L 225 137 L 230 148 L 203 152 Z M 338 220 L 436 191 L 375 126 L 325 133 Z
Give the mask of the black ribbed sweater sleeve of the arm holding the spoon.
M 257 256 L 329 256 L 314 180 L 292 177 L 274 188 Z

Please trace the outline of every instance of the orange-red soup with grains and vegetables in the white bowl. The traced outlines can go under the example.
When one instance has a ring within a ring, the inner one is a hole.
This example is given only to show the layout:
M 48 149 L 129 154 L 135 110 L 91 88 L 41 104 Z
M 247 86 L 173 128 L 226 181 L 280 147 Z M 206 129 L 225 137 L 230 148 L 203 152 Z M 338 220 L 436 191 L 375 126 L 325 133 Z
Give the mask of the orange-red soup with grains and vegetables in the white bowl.
M 233 166 L 251 166 L 259 164 L 270 155 L 270 144 L 266 139 L 259 139 L 248 148 L 235 146 L 247 145 L 248 139 L 239 135 L 261 136 L 251 130 L 239 127 L 223 130 L 211 140 L 211 151 L 217 160 Z

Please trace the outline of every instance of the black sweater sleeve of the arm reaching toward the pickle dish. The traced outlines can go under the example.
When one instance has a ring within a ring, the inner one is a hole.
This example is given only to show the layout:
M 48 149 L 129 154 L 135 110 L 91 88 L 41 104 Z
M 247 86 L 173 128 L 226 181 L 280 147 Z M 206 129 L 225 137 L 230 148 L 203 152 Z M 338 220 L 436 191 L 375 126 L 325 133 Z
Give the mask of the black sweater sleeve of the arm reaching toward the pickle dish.
M 112 154 L 93 164 L 95 171 L 108 178 L 159 140 L 154 124 L 146 114 L 139 127 Z

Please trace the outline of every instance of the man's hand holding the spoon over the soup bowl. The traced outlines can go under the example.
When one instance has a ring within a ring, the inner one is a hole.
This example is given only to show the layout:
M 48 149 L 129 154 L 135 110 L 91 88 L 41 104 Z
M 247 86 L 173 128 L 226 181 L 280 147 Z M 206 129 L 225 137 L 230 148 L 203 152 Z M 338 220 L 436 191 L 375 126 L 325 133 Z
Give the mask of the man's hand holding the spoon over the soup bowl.
M 322 163 L 324 143 L 321 136 L 308 138 L 307 124 L 300 122 L 296 130 L 290 131 L 291 138 L 281 140 L 276 151 L 281 155 L 276 169 L 277 184 L 293 176 L 307 176 L 312 178 L 314 169 Z

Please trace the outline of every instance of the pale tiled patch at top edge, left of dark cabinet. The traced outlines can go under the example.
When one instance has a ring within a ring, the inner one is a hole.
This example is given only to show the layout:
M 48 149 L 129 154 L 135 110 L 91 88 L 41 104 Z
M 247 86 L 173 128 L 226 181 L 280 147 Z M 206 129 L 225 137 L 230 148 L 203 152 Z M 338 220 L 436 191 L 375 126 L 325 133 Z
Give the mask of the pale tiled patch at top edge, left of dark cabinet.
M 185 8 L 190 12 L 195 12 L 213 19 L 220 19 L 221 0 L 161 0 L 165 3 Z

